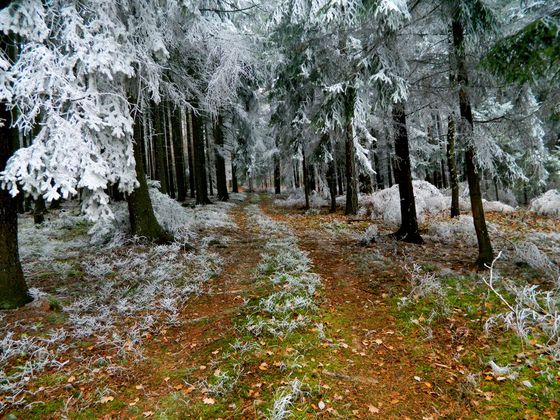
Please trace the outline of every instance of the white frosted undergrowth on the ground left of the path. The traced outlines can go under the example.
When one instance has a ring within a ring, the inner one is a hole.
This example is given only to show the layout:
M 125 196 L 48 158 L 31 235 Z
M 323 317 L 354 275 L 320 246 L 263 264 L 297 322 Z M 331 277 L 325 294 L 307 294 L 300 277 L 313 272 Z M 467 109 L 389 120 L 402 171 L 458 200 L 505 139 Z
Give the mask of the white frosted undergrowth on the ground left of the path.
M 36 299 L 31 305 L 55 307 L 65 321 L 46 336 L 36 336 L 33 323 L 0 326 L 0 393 L 5 395 L 0 411 L 26 404 L 30 380 L 66 365 L 69 353 L 83 358 L 77 347 L 83 340 L 117 358 L 83 359 L 80 370 L 95 365 L 112 369 L 118 360 L 142 359 L 145 338 L 183 322 L 180 314 L 189 297 L 203 292 L 221 271 L 223 260 L 209 243 L 227 241 L 224 229 L 236 229 L 229 211 L 244 196 L 204 209 L 183 207 L 155 189 L 151 196 L 158 221 L 177 242 L 155 246 L 131 237 L 126 203 L 112 205 L 113 221 L 93 226 L 72 203 L 38 226 L 29 216 L 21 218 L 25 273 L 31 285 L 44 277 L 52 281 L 48 293 L 31 289 Z M 2 369 L 22 355 L 20 369 Z

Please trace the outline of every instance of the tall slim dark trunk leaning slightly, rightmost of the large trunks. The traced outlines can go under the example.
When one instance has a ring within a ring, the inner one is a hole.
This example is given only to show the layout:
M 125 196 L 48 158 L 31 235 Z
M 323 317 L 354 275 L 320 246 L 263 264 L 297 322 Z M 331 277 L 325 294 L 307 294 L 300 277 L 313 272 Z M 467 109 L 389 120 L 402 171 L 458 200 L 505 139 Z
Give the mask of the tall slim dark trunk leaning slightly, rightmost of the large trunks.
M 457 64 L 457 82 L 459 84 L 459 109 L 461 119 L 465 123 L 464 135 L 468 136 L 465 142 L 465 164 L 467 170 L 467 181 L 469 183 L 469 193 L 471 198 L 471 210 L 474 220 L 474 227 L 478 239 L 478 258 L 476 264 L 479 268 L 484 268 L 492 263 L 494 251 L 490 242 L 490 235 L 486 227 L 484 208 L 482 207 L 482 194 L 480 192 L 480 176 L 475 164 L 475 150 L 472 143 L 473 116 L 471 102 L 468 92 L 468 74 L 465 62 L 464 51 L 464 32 L 463 27 L 456 19 L 452 22 L 453 47 Z

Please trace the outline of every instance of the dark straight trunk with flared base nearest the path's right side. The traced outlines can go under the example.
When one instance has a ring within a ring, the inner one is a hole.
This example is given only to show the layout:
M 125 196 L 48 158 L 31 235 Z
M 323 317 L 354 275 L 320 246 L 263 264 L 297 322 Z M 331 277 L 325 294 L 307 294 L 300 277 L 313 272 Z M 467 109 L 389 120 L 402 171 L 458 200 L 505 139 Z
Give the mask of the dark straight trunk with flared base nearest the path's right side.
M 395 126 L 395 178 L 399 183 L 401 199 L 401 227 L 393 236 L 401 241 L 422 244 L 424 241 L 418 231 L 408 147 L 408 130 L 405 108 L 402 102 L 393 105 L 393 123 Z

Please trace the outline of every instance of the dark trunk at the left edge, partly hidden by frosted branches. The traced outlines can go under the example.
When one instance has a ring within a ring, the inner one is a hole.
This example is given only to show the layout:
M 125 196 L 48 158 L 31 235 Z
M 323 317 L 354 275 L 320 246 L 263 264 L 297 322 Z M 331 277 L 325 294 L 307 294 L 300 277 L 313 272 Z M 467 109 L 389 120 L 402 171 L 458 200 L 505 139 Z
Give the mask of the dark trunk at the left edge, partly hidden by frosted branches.
M 0 48 L 15 59 L 16 47 L 5 35 L 1 35 Z M 19 146 L 19 136 L 10 127 L 12 114 L 4 104 L 0 104 L 0 120 L 4 122 L 0 127 L 1 172 Z M 0 188 L 0 310 L 18 308 L 32 300 L 19 260 L 17 207 L 18 200 Z

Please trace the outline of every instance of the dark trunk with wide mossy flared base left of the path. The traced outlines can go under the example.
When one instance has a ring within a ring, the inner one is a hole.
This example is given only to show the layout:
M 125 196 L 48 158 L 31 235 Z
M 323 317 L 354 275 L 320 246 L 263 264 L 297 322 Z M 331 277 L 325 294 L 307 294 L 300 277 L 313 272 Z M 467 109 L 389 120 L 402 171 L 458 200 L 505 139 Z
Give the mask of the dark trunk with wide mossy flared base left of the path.
M 156 243 L 173 242 L 173 236 L 167 233 L 158 223 L 154 215 L 152 200 L 146 182 L 146 173 L 142 166 L 142 130 L 140 129 L 140 115 L 134 118 L 134 159 L 136 160 L 136 179 L 138 188 L 128 196 L 128 215 L 131 233 Z

